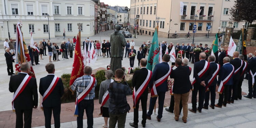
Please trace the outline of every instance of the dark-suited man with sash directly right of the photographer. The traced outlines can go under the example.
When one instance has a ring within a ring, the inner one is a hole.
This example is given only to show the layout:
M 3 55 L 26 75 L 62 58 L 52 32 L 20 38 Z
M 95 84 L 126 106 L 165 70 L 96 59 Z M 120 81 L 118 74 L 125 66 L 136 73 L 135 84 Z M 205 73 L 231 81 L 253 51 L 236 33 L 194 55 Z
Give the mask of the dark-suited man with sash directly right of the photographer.
M 143 84 L 143 82 L 146 80 L 147 75 L 148 75 L 148 70 L 146 69 L 146 65 L 147 65 L 147 60 L 142 58 L 140 60 L 140 70 L 137 70 L 134 72 L 134 75 L 132 77 L 132 86 L 133 88 L 135 88 L 135 90 L 137 91 L 141 85 Z M 142 127 L 145 128 L 146 125 L 146 119 L 147 119 L 147 95 L 148 95 L 148 87 L 147 85 L 145 85 L 146 88 L 143 91 L 143 93 L 141 94 L 140 98 L 137 100 L 137 104 L 135 105 L 134 108 L 134 122 L 133 123 L 129 123 L 130 126 L 138 128 L 138 123 L 139 123 L 139 103 L 141 101 L 141 108 L 142 108 Z

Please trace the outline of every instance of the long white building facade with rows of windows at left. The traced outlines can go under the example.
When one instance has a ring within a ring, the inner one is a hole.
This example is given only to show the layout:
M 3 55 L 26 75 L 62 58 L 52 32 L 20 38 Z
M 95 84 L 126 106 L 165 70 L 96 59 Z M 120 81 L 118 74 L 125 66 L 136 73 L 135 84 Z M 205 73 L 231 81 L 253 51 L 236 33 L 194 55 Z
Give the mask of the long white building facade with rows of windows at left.
M 5 11 L 6 10 L 6 11 Z M 0 38 L 16 38 L 16 24 L 22 21 L 25 39 L 76 36 L 77 23 L 82 23 L 81 36 L 94 35 L 95 2 L 91 0 L 2 0 L 0 2 Z M 48 25 L 49 15 L 49 25 Z M 8 34 L 9 32 L 9 34 Z

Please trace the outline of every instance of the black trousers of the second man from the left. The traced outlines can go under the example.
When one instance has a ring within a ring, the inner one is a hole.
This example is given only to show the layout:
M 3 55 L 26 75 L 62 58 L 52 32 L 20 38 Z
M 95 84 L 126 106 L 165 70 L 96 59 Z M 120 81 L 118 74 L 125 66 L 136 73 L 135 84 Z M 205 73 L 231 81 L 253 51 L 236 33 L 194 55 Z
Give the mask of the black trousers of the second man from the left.
M 45 128 L 51 128 L 52 113 L 54 118 L 54 127 L 60 128 L 60 104 L 55 107 L 43 107 L 45 117 Z

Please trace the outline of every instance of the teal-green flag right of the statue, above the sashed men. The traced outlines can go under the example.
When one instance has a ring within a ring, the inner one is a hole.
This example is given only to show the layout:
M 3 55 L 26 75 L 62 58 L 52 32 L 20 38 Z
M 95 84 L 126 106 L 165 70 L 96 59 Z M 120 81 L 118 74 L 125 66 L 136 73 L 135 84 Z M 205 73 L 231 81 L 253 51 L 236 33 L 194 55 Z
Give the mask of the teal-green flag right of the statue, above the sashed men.
M 150 71 L 153 71 L 157 63 L 159 63 L 159 47 L 157 30 L 155 29 L 150 51 L 148 52 L 146 68 Z

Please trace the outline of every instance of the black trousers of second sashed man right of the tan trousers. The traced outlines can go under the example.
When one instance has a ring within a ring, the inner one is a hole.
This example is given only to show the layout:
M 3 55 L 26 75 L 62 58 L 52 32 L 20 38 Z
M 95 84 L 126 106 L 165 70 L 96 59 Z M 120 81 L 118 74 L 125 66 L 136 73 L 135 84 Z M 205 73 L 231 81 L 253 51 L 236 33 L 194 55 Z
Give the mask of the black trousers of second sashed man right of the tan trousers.
M 209 91 L 205 92 L 205 97 L 204 97 L 204 104 L 203 106 L 208 107 L 209 105 L 209 99 L 210 99 L 210 94 L 211 94 L 211 105 L 215 105 L 215 97 L 216 97 L 216 84 L 212 84 L 209 86 Z

